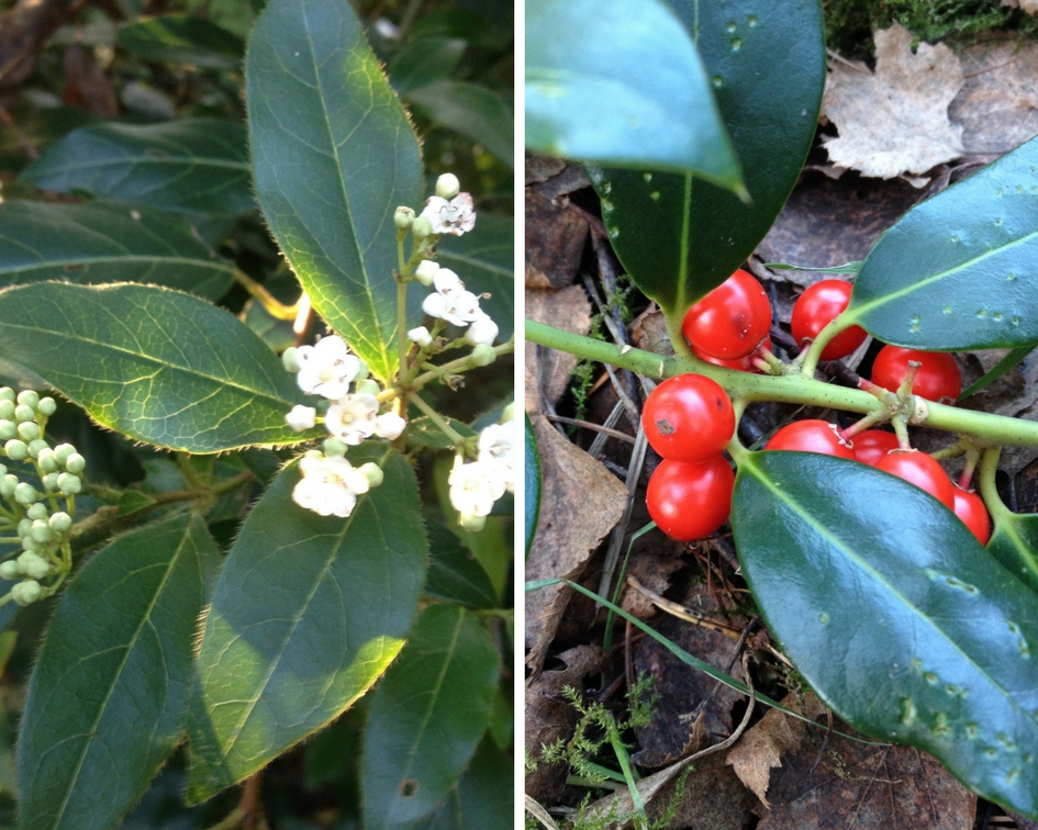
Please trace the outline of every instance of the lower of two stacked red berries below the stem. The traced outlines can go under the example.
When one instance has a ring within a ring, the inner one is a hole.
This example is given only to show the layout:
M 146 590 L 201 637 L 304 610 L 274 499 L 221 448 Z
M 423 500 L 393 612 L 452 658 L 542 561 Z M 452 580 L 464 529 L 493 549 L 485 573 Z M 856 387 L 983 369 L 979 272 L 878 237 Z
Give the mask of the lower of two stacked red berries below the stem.
M 735 473 L 724 456 L 694 464 L 665 459 L 649 479 L 645 503 L 670 538 L 702 539 L 727 521 L 734 484 Z

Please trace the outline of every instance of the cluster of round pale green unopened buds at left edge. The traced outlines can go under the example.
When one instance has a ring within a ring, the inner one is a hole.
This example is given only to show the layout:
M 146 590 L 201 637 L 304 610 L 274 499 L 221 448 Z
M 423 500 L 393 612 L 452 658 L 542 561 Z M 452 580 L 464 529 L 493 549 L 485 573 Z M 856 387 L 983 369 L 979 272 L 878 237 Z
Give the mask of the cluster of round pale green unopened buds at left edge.
M 14 462 L 0 464 L 0 498 L 5 503 L 0 506 L 0 534 L 12 534 L 0 537 L 0 543 L 21 549 L 0 562 L 0 577 L 18 580 L 0 604 L 13 599 L 29 605 L 49 596 L 71 568 L 68 538 L 87 462 L 72 445 L 52 448 L 44 438 L 56 410 L 51 397 L 0 388 L 0 455 Z M 65 501 L 65 511 L 58 509 L 59 500 Z M 45 586 L 42 581 L 48 577 L 54 581 Z

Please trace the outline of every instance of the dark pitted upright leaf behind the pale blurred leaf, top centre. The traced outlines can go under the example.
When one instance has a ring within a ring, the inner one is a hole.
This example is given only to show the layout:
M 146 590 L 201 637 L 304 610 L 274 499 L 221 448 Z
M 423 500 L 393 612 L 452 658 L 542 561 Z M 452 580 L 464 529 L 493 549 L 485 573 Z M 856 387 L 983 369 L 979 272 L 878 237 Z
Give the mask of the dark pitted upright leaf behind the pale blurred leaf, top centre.
M 689 175 L 589 172 L 627 272 L 665 310 L 682 314 L 744 262 L 785 203 L 818 123 L 825 49 L 817 0 L 670 2 L 699 33 L 752 202 Z

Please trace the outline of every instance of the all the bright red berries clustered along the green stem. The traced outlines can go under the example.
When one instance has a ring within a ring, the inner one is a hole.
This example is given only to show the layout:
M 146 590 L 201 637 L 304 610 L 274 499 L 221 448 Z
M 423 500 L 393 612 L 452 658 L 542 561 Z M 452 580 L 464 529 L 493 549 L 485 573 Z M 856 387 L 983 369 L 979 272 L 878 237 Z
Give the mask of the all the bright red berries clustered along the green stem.
M 792 332 L 806 346 L 850 302 L 851 287 L 822 280 L 808 288 L 793 307 Z M 763 287 L 746 271 L 736 271 L 719 288 L 689 310 L 682 332 L 695 354 L 712 363 L 744 371 L 761 369 L 770 349 L 771 303 Z M 866 332 L 852 326 L 834 337 L 823 360 L 855 351 Z M 961 390 L 958 366 L 950 355 L 884 346 L 875 358 L 872 383 L 895 392 L 909 363 L 918 364 L 912 393 L 955 403 Z M 663 459 L 646 493 L 649 515 L 668 536 L 700 539 L 728 518 L 735 476 L 722 451 L 735 431 L 735 413 L 725 391 L 710 378 L 683 374 L 660 383 L 645 402 L 646 438 Z M 902 449 L 893 433 L 869 429 L 845 436 L 825 420 L 799 420 L 779 429 L 766 450 L 793 450 L 839 456 L 897 475 L 930 493 L 953 511 L 982 545 L 991 534 L 983 500 L 953 484 L 930 456 Z

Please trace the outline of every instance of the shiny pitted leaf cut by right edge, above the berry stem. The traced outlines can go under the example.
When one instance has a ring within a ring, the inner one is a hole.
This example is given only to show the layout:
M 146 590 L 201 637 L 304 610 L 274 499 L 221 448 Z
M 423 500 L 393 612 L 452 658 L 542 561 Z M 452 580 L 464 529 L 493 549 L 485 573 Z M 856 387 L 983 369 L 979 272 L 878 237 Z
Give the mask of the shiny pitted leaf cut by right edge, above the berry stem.
M 885 343 L 1038 343 L 1038 139 L 908 211 L 869 251 L 847 314 Z

